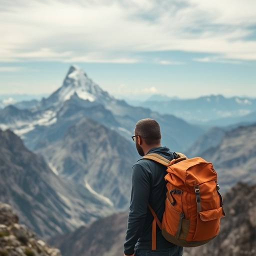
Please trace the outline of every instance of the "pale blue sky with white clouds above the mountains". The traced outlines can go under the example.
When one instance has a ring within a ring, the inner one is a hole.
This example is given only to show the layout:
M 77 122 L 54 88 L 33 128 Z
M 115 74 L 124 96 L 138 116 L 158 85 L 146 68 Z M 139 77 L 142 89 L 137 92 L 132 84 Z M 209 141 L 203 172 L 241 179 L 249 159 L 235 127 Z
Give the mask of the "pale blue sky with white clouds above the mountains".
M 0 0 L 0 94 L 72 64 L 117 98 L 256 97 L 256 0 Z

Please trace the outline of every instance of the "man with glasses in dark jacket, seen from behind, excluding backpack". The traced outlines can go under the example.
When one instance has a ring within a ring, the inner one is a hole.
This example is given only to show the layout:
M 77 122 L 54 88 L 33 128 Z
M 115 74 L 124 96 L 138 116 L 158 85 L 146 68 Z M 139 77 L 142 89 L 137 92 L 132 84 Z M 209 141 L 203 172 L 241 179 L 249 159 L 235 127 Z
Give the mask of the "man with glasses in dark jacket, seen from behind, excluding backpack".
M 153 119 L 139 120 L 135 125 L 132 139 L 141 156 L 147 153 L 158 153 L 169 160 L 175 157 L 167 147 L 161 146 L 160 127 Z M 151 249 L 153 216 L 148 204 L 161 221 L 167 192 L 165 174 L 165 166 L 149 159 L 139 159 L 132 166 L 132 189 L 124 256 L 182 255 L 183 248 L 165 240 L 158 226 L 156 250 Z

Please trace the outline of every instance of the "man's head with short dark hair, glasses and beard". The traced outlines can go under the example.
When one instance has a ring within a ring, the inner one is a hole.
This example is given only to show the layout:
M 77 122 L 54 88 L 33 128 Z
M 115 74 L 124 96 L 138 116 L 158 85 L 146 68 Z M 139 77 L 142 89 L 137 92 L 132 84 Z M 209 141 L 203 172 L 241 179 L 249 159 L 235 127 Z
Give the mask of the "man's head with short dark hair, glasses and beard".
M 145 118 L 139 120 L 134 129 L 136 149 L 143 156 L 150 148 L 161 146 L 161 131 L 157 121 Z

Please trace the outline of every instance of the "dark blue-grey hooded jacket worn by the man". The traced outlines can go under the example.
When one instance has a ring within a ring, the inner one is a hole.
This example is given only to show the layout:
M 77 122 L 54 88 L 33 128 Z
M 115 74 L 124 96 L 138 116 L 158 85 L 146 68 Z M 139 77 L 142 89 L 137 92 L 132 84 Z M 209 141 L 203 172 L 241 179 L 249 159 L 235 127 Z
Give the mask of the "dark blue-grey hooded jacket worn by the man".
M 148 153 L 158 153 L 169 160 L 173 159 L 173 152 L 167 147 L 154 147 Z M 131 255 L 134 247 L 151 249 L 153 216 L 147 204 L 151 205 L 161 221 L 167 192 L 164 180 L 166 173 L 165 166 L 149 159 L 139 159 L 132 166 L 132 189 L 124 254 Z M 176 245 L 165 240 L 157 226 L 156 249 L 167 249 L 173 246 Z

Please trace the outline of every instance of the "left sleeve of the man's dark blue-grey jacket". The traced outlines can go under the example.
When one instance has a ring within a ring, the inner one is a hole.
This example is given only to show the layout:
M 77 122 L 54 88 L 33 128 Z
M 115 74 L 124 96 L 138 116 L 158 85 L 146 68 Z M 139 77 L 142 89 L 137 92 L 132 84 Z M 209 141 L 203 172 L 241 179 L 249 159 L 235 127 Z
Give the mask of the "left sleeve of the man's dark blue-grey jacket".
M 127 230 L 124 242 L 124 254 L 131 255 L 142 232 L 147 214 L 150 193 L 149 172 L 138 163 L 132 167 L 132 188 Z

